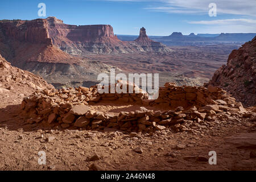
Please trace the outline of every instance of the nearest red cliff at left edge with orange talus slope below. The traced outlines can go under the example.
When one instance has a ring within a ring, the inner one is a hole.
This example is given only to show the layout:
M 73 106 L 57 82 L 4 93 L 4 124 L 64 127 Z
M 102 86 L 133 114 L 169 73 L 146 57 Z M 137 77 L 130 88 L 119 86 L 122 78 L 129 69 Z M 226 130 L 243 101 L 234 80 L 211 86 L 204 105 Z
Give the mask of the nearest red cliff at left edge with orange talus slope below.
M 53 46 L 47 20 L 0 21 L 0 53 L 13 65 L 27 68 L 27 62 L 77 63 L 78 60 Z

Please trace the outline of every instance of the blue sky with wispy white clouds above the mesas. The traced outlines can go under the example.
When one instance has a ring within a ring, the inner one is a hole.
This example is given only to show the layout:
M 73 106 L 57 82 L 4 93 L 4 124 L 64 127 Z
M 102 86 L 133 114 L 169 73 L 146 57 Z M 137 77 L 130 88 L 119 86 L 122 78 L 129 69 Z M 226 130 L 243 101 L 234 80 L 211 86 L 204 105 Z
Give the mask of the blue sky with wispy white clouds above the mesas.
M 0 19 L 36 19 L 38 4 L 46 4 L 46 17 L 56 16 L 67 24 L 110 24 L 114 34 L 148 35 L 172 32 L 256 32 L 256 0 L 33 0 L 2 1 Z M 217 16 L 208 15 L 216 3 Z

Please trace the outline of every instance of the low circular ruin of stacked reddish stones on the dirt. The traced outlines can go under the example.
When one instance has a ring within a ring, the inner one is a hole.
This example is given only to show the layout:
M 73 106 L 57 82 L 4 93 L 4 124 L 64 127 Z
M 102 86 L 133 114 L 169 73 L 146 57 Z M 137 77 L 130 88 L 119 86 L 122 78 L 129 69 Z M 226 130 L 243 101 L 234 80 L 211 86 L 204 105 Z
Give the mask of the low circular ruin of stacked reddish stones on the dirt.
M 216 119 L 240 118 L 247 113 L 241 102 L 213 86 L 166 83 L 156 100 L 148 100 L 147 93 L 135 84 L 133 89 L 140 93 L 100 94 L 97 85 L 38 90 L 24 98 L 21 113 L 30 124 L 145 133 L 164 129 L 197 133 L 201 128 L 195 126 L 207 127 Z

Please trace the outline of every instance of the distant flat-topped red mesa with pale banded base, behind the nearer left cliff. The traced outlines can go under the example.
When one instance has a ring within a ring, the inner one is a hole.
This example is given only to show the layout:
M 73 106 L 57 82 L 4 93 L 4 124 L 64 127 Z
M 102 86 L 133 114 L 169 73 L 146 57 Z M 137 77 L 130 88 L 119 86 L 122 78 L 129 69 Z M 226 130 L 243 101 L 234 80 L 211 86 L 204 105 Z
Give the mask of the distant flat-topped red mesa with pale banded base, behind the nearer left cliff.
M 147 43 L 141 41 L 123 42 L 114 35 L 113 27 L 108 24 L 76 26 L 64 24 L 62 20 L 55 17 L 48 17 L 46 20 L 49 37 L 53 44 L 70 55 L 170 51 L 163 44 L 153 42 L 150 39 L 147 40 Z M 146 31 L 144 34 L 146 35 Z

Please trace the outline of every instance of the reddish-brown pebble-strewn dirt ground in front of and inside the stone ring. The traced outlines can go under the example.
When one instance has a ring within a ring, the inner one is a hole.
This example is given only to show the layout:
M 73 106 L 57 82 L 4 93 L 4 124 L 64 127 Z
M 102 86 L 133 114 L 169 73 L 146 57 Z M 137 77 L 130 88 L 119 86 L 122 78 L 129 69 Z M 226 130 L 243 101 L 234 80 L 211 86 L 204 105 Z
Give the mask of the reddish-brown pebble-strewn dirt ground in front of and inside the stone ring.
M 19 105 L 7 105 L 0 109 L 0 170 L 256 169 L 256 131 L 250 126 L 220 127 L 214 135 L 61 129 L 27 124 Z M 117 113 L 137 106 L 93 107 Z M 39 151 L 46 164 L 38 163 Z M 216 151 L 216 165 L 209 164 L 209 151 Z

